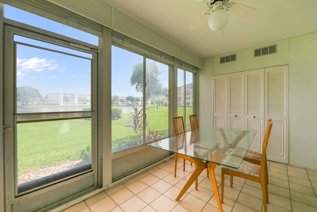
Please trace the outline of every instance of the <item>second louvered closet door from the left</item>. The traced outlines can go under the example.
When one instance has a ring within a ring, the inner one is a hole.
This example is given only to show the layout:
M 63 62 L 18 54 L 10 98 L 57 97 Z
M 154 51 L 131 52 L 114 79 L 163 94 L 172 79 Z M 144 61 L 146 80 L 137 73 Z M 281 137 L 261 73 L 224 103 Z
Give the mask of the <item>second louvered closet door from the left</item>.
M 244 128 L 244 72 L 228 74 L 228 127 Z

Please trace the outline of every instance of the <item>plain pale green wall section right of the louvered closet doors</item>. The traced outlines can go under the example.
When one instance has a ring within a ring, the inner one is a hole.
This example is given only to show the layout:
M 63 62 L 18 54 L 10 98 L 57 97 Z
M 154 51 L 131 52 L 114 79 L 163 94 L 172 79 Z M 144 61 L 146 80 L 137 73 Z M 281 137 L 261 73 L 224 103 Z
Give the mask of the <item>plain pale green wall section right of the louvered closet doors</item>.
M 290 164 L 317 169 L 317 32 L 290 39 Z

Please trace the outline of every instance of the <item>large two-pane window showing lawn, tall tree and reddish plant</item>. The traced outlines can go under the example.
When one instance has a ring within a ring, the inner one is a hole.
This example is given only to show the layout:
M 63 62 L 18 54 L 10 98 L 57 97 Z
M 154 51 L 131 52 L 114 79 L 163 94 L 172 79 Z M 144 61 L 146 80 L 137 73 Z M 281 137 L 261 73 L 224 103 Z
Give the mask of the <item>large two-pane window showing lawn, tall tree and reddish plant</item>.
M 168 137 L 169 66 L 116 46 L 111 58 L 112 152 Z

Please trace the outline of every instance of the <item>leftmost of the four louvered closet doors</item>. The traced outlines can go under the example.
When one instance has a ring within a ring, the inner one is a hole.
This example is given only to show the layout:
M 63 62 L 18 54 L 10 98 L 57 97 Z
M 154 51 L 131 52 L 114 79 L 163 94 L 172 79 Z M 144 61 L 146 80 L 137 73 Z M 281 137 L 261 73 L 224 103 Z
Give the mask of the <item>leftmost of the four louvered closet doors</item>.
M 227 74 L 213 76 L 213 125 L 227 126 Z

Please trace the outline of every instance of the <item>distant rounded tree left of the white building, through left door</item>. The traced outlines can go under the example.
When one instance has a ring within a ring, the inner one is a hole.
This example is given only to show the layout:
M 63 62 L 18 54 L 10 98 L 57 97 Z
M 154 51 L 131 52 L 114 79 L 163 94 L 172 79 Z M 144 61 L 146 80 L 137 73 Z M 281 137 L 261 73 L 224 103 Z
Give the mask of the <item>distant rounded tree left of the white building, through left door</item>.
M 16 87 L 16 100 L 22 105 L 28 105 L 30 99 L 43 98 L 40 91 L 31 86 Z

